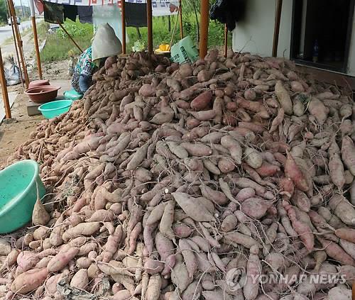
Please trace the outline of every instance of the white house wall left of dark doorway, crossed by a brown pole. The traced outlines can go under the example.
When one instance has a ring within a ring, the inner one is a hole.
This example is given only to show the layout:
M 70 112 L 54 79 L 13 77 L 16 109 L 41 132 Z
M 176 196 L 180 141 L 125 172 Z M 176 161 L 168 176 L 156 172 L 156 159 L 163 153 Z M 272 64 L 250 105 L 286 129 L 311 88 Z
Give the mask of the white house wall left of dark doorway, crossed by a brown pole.
M 290 57 L 293 0 L 283 1 L 278 56 Z M 275 26 L 275 0 L 246 1 L 246 15 L 233 32 L 233 50 L 271 56 Z

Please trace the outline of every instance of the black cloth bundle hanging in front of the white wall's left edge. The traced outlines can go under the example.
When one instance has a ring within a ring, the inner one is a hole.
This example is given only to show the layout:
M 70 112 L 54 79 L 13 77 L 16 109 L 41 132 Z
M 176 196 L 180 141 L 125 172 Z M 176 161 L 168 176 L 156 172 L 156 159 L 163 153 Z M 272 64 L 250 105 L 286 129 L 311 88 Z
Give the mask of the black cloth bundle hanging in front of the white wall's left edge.
M 217 0 L 209 11 L 209 18 L 217 20 L 229 31 L 236 28 L 236 22 L 244 16 L 246 0 Z

